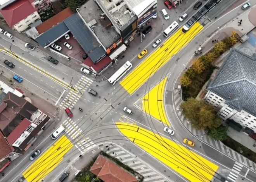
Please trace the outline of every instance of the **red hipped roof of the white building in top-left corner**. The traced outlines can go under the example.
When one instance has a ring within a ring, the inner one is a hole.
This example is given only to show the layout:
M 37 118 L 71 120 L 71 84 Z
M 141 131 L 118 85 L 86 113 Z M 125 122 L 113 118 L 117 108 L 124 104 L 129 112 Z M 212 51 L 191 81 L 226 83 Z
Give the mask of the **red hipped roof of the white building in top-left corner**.
M 0 10 L 7 24 L 12 27 L 17 22 L 20 22 L 24 18 L 36 12 L 29 0 L 18 0 L 6 8 Z

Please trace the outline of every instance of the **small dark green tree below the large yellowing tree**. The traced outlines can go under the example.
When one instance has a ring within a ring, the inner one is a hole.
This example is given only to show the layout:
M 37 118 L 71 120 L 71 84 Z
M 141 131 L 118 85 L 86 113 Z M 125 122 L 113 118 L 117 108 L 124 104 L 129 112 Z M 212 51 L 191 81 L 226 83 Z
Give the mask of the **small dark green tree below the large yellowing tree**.
M 217 128 L 209 129 L 207 134 L 209 137 L 213 138 L 214 140 L 224 141 L 227 140 L 227 131 L 228 128 L 224 125 L 220 125 Z

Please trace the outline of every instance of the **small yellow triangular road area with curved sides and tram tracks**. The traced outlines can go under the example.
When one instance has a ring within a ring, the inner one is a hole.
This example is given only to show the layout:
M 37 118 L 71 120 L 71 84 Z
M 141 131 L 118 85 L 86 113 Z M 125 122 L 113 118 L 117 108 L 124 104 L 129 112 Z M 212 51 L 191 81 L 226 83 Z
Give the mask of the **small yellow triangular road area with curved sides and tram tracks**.
M 168 77 L 165 77 L 142 97 L 142 108 L 150 116 L 170 126 L 164 110 L 164 86 L 167 79 Z

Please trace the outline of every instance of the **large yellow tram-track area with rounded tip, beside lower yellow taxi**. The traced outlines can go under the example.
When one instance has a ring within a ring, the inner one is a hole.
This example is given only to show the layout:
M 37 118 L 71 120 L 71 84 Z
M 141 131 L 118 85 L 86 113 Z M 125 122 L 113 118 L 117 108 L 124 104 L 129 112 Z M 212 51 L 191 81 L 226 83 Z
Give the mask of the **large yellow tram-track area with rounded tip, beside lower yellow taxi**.
M 137 125 L 116 122 L 120 132 L 134 144 L 180 173 L 191 182 L 209 182 L 218 166 L 181 144 Z

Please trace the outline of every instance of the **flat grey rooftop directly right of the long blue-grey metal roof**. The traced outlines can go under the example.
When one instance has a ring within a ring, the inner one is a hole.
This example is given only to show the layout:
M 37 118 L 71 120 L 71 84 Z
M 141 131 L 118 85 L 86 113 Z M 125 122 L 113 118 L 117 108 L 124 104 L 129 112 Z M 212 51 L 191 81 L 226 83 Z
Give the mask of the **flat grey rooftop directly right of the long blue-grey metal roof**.
M 88 2 L 80 7 L 79 13 L 85 22 L 92 27 L 94 33 L 105 48 L 109 48 L 114 42 L 120 39 L 120 35 L 112 26 L 111 21 L 106 15 L 102 14 L 102 10 L 94 0 L 88 0 Z

